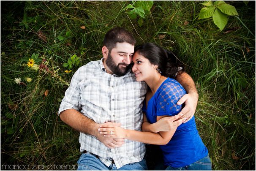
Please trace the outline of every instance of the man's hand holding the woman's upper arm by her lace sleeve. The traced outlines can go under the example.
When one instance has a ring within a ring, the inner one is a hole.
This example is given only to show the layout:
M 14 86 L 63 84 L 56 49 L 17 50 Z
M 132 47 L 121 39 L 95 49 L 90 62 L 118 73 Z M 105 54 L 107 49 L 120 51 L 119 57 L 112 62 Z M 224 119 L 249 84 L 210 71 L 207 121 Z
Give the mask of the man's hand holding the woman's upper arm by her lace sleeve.
M 180 100 L 177 102 L 177 105 L 181 105 L 182 103 L 185 102 L 184 108 L 179 113 L 179 114 L 183 114 L 183 118 L 184 117 L 187 118 L 183 123 L 188 122 L 193 117 L 196 111 L 197 101 L 198 101 L 198 94 L 189 93 L 189 94 L 183 95 L 182 98 L 180 98 Z

